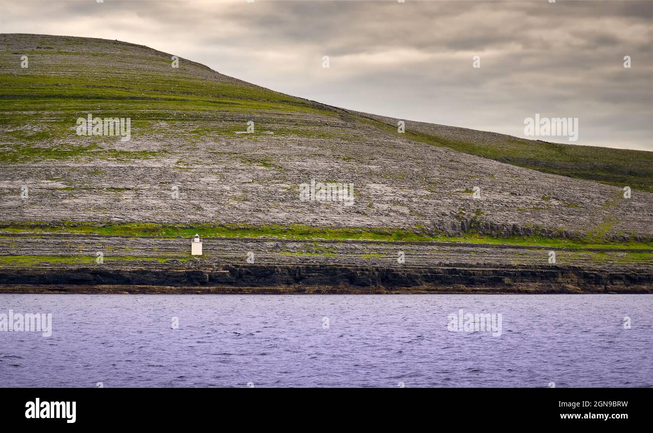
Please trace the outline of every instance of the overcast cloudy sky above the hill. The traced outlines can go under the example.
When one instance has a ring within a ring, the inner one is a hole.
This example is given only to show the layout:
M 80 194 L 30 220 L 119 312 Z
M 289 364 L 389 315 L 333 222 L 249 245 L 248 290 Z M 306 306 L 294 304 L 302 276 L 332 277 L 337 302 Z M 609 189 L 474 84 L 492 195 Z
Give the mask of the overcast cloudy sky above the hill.
M 577 117 L 574 144 L 653 151 L 653 1 L 2 0 L 0 31 L 134 42 L 334 106 L 515 136 L 535 113 Z

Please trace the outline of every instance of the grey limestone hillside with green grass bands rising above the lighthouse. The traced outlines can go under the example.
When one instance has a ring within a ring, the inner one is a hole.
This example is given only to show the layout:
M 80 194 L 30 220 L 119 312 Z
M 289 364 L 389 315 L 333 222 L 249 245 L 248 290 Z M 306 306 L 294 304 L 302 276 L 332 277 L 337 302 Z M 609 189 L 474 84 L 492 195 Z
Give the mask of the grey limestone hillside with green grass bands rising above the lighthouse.
M 171 57 L 0 35 L 0 231 L 651 246 L 653 153 L 411 121 L 399 134 Z M 78 136 L 88 113 L 131 118 L 131 140 Z M 353 183 L 355 204 L 301 202 L 311 179 Z

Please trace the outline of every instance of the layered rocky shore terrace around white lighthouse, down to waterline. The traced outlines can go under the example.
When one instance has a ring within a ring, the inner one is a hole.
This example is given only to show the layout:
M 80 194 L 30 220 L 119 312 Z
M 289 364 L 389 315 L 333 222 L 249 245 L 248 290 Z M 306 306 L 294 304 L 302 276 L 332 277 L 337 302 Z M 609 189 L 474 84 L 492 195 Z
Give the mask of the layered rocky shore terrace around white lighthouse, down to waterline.
M 648 293 L 653 286 L 648 250 L 622 248 L 208 238 L 204 255 L 191 256 L 190 239 L 177 237 L 5 239 L 0 293 Z M 27 255 L 12 255 L 19 248 Z

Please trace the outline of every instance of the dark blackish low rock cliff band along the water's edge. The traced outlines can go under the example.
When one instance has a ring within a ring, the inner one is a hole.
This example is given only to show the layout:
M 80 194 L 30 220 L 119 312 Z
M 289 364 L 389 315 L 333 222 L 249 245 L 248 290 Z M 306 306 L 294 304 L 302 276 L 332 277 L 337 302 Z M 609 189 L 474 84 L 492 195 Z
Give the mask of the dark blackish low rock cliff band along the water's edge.
M 332 293 L 375 292 L 379 290 L 411 292 L 468 292 L 486 293 L 651 293 L 653 275 L 635 272 L 584 270 L 576 267 L 496 267 L 496 268 L 423 268 L 409 267 L 346 267 L 337 265 L 223 265 L 208 269 L 95 269 L 75 268 L 46 271 L 14 269 L 0 271 L 5 288 L 16 291 L 14 285 L 40 286 L 24 291 L 52 291 L 48 286 L 69 286 L 63 291 L 93 292 L 89 286 L 156 286 L 178 288 L 212 288 L 206 293 L 249 291 L 283 292 L 315 291 L 330 287 Z M 183 288 L 183 290 L 182 290 Z M 245 290 L 247 288 L 247 290 Z M 301 290 L 298 290 L 301 288 Z M 124 288 L 103 291 L 125 291 Z M 97 290 L 100 291 L 100 290 Z M 168 289 L 170 291 L 170 289 Z M 191 290 L 193 291 L 193 290 Z M 196 290 L 197 291 L 197 290 Z

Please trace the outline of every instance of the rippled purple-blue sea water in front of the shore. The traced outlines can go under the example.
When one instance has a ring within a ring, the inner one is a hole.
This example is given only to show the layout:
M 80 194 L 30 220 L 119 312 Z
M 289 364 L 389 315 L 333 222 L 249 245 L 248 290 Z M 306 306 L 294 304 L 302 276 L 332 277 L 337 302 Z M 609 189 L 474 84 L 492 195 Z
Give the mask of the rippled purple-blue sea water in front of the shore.
M 501 314 L 501 335 L 450 331 L 460 308 Z M 0 295 L 8 310 L 51 313 L 52 335 L 0 331 L 1 387 L 653 386 L 653 295 Z

